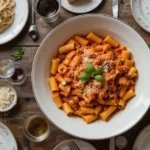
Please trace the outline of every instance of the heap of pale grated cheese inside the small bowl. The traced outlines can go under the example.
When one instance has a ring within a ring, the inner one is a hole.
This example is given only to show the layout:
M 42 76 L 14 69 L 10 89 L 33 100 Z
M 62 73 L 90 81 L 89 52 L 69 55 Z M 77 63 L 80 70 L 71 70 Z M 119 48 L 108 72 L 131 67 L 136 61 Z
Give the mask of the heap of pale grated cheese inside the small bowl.
M 6 86 L 0 87 L 0 108 L 6 109 L 14 100 L 14 92 Z

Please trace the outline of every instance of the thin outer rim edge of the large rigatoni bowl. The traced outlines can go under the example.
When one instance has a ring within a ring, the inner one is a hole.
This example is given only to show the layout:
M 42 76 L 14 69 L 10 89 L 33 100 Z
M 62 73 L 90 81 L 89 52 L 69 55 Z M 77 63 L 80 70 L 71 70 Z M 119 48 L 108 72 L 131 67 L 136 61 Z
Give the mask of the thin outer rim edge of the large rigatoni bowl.
M 103 16 L 103 17 L 106 16 L 106 17 L 115 19 L 115 20 L 117 20 L 117 21 L 119 21 L 119 22 L 122 22 L 122 23 L 126 24 L 127 26 L 129 26 L 134 32 L 136 32 L 136 33 L 141 37 L 141 39 L 143 39 L 142 36 L 141 36 L 132 26 L 130 26 L 129 24 L 127 24 L 126 22 L 124 22 L 124 21 L 121 20 L 121 19 L 116 19 L 116 18 L 114 18 L 113 16 L 106 15 L 106 14 L 90 13 L 90 14 L 84 14 L 84 15 L 79 15 L 79 16 L 72 17 L 72 18 L 67 19 L 66 21 L 62 22 L 62 23 L 59 24 L 58 26 L 56 26 L 56 27 L 44 38 L 44 40 L 43 40 L 42 43 L 40 44 L 39 48 L 44 45 L 44 42 L 45 42 L 45 40 L 47 39 L 47 37 L 50 36 L 55 30 L 57 30 L 57 28 L 63 26 L 64 24 L 66 24 L 67 22 L 70 22 L 71 20 L 75 20 L 75 19 L 78 19 L 78 18 L 82 18 L 82 17 L 84 17 L 84 16 Z M 144 39 L 143 39 L 143 41 L 145 42 Z M 146 42 L 145 42 L 145 44 L 147 45 Z M 148 47 L 148 45 L 147 45 L 147 47 Z M 39 102 L 38 102 L 38 100 L 37 100 L 37 97 L 36 97 L 36 94 L 35 94 L 35 91 L 34 91 L 34 86 L 33 86 L 34 67 L 35 67 L 35 63 L 36 63 L 36 61 L 37 61 L 37 57 L 38 57 L 38 55 L 39 55 L 39 48 L 38 48 L 38 50 L 37 50 L 37 52 L 36 52 L 36 54 L 35 54 L 34 61 L 33 61 L 33 64 L 32 64 L 31 82 L 32 82 L 32 89 L 33 89 L 33 94 L 34 94 L 34 97 L 35 97 L 35 99 L 36 99 L 36 102 L 37 102 L 39 108 L 41 109 L 41 111 L 43 112 L 43 114 L 46 116 L 46 118 L 47 118 L 53 125 L 55 125 L 58 129 L 60 129 L 61 131 L 65 132 L 65 133 L 67 133 L 67 134 L 69 134 L 69 135 L 71 135 L 71 136 L 74 136 L 74 137 L 76 137 L 76 138 L 80 138 L 80 139 L 84 139 L 84 140 L 92 140 L 92 141 L 93 141 L 93 140 L 105 140 L 105 139 L 111 138 L 111 137 L 105 137 L 105 138 L 83 138 L 83 137 L 80 137 L 80 136 L 73 135 L 73 134 L 71 134 L 71 133 L 69 133 L 69 132 L 63 130 L 62 128 L 58 127 L 57 124 L 55 124 L 55 123 L 47 116 L 47 114 L 46 114 L 46 113 L 44 112 L 44 110 L 41 108 L 41 106 L 40 106 L 40 104 L 39 104 Z M 148 47 L 148 48 L 149 48 L 149 47 Z M 147 110 L 145 111 L 145 113 L 141 116 L 141 118 L 139 118 L 139 120 L 138 120 L 135 124 L 131 125 L 131 126 L 130 126 L 128 129 L 126 129 L 125 131 L 118 132 L 117 134 L 115 134 L 115 135 L 112 136 L 112 137 L 115 137 L 115 136 L 118 136 L 118 135 L 120 135 L 120 134 L 123 134 L 123 133 L 127 132 L 128 130 L 130 130 L 131 128 L 133 128 L 138 122 L 140 122 L 140 121 L 142 120 L 142 118 L 143 118 L 143 117 L 145 116 L 145 114 L 147 113 L 149 107 L 150 107 L 150 105 L 147 107 Z

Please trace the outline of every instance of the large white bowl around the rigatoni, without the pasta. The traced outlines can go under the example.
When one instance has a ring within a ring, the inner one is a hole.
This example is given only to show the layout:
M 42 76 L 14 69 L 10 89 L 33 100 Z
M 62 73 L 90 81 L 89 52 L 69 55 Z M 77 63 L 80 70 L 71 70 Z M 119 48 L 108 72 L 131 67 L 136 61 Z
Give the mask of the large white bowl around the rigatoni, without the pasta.
M 133 54 L 139 77 L 136 97 L 108 122 L 96 121 L 86 124 L 77 117 L 67 117 L 52 100 L 48 84 L 51 59 L 57 55 L 58 47 L 75 34 L 93 31 L 98 35 L 110 34 Z M 127 24 L 112 17 L 88 14 L 71 18 L 51 31 L 39 47 L 32 68 L 32 85 L 36 100 L 44 114 L 58 128 L 73 136 L 98 140 L 119 135 L 133 127 L 146 113 L 150 105 L 150 51 L 140 35 Z

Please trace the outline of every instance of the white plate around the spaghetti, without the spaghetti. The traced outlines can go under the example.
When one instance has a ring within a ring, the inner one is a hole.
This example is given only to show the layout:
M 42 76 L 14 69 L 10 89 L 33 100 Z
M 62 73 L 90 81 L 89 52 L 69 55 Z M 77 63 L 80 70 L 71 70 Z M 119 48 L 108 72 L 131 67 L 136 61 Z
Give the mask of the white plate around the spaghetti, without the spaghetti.
M 15 17 L 13 23 L 0 33 L 0 45 L 14 39 L 24 28 L 29 15 L 28 0 L 15 0 Z

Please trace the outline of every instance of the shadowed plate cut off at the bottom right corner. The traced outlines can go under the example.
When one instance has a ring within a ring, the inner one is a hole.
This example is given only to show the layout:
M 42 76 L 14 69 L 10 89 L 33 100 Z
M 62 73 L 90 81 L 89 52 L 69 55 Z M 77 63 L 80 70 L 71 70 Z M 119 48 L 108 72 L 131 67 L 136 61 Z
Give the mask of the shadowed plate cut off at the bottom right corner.
M 137 136 L 133 150 L 150 150 L 150 124 Z

